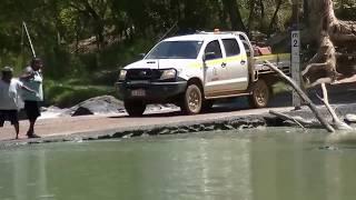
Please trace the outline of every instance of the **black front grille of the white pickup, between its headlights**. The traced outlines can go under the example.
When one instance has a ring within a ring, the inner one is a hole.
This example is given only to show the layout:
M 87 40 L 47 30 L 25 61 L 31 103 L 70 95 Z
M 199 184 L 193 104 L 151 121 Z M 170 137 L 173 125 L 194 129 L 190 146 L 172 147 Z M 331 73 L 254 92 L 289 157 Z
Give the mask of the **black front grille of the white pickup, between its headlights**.
M 152 69 L 130 69 L 127 71 L 126 80 L 158 80 L 161 72 Z

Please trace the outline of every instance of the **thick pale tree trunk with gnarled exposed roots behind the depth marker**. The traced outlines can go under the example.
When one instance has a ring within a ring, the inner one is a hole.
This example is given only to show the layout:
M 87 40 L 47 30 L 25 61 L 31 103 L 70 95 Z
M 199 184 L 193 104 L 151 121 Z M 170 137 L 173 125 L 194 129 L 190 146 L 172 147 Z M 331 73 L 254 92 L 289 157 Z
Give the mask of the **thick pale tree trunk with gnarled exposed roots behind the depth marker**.
M 319 49 L 304 70 L 303 77 L 315 80 L 310 82 L 310 86 L 317 86 L 353 76 L 352 73 L 355 71 L 349 69 L 355 64 L 350 63 L 355 62 L 355 57 L 346 61 L 337 60 L 337 58 L 343 58 L 345 52 L 356 51 L 356 22 L 338 20 L 334 12 L 333 0 L 308 1 L 308 8 L 309 24 L 312 26 L 309 36 L 313 40 L 320 40 Z M 343 64 L 339 64 L 340 61 Z M 320 74 L 324 77 L 319 77 Z

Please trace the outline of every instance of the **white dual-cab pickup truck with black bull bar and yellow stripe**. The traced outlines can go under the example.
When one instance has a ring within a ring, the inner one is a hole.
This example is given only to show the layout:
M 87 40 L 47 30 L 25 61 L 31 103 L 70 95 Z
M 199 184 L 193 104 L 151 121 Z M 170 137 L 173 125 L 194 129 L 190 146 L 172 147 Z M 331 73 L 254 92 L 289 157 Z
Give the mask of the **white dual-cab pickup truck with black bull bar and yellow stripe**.
M 253 108 L 268 103 L 276 74 L 268 60 L 290 73 L 290 54 L 259 52 L 244 32 L 199 32 L 168 38 L 120 70 L 116 87 L 129 116 L 149 103 L 175 103 L 197 114 L 222 98 L 248 96 Z

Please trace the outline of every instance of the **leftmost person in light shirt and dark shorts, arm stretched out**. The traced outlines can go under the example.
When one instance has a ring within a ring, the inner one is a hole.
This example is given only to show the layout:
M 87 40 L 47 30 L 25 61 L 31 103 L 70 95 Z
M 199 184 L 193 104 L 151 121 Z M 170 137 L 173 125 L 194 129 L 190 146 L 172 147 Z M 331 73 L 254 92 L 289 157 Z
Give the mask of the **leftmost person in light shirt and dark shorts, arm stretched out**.
M 34 90 L 23 86 L 17 79 L 13 79 L 13 70 L 11 67 L 4 67 L 1 70 L 0 80 L 0 127 L 3 127 L 4 121 L 10 121 L 14 127 L 16 139 L 19 138 L 20 126 L 19 126 L 19 94 L 20 90 L 23 89 L 27 92 L 37 94 Z

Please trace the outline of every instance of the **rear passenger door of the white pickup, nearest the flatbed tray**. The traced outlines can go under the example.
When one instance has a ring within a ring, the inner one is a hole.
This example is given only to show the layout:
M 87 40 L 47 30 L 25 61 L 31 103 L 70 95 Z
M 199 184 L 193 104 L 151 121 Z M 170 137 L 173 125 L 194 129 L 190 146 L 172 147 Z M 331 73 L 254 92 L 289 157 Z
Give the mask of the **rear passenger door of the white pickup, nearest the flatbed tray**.
M 247 54 L 241 42 L 236 38 L 222 39 L 228 72 L 228 90 L 243 91 L 248 88 Z

